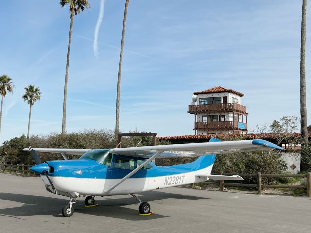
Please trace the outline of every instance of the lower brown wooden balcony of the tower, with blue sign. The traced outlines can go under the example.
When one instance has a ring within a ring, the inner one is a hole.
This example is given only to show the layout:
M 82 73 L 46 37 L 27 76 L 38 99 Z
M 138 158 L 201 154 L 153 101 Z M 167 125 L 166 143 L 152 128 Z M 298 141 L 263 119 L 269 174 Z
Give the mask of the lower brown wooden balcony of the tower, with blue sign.
M 228 129 L 247 131 L 247 123 L 237 121 L 195 122 L 194 129 Z

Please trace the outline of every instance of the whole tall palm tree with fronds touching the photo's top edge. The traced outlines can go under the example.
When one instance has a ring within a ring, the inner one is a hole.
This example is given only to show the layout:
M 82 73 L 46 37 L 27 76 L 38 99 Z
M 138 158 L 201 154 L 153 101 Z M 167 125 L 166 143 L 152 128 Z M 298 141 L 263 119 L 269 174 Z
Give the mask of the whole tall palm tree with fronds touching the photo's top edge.
M 65 85 L 64 85 L 64 102 L 63 102 L 63 124 L 62 124 L 62 134 L 66 133 L 66 101 L 67 101 L 67 81 L 68 81 L 68 68 L 69 68 L 69 56 L 70 56 L 70 45 L 71 45 L 71 35 L 73 26 L 74 15 L 80 14 L 80 11 L 84 11 L 85 8 L 89 6 L 87 0 L 60 0 L 60 5 L 63 7 L 69 4 L 70 8 L 70 30 L 68 39 L 68 50 L 67 50 L 67 60 L 66 60 L 66 72 L 65 72 Z

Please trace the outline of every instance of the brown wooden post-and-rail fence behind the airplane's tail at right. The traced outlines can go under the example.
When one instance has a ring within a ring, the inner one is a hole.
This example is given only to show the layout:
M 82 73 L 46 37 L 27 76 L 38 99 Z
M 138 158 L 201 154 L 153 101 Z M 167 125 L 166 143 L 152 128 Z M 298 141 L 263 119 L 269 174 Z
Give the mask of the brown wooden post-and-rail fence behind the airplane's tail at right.
M 251 187 L 257 188 L 257 194 L 262 194 L 262 188 L 297 188 L 297 189 L 306 189 L 307 196 L 311 197 L 311 172 L 307 174 L 261 174 L 258 172 L 257 174 L 230 174 L 230 173 L 223 173 L 222 171 L 219 173 L 212 173 L 213 175 L 239 175 L 241 177 L 256 177 L 257 184 L 249 184 L 249 183 L 225 183 L 223 180 L 219 182 L 205 182 L 207 184 L 217 184 L 219 185 L 219 191 L 224 191 L 224 186 L 234 186 L 234 187 Z M 306 186 L 302 185 L 267 185 L 262 184 L 262 177 L 300 177 L 300 178 L 307 178 Z

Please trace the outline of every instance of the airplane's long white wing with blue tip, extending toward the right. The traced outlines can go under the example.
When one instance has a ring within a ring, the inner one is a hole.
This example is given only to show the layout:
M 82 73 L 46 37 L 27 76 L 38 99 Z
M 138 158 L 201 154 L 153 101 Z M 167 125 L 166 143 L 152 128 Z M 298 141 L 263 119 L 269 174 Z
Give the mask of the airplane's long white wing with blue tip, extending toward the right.
M 158 153 L 157 158 L 168 157 L 187 157 L 201 156 L 209 154 L 227 154 L 255 150 L 271 150 L 283 148 L 261 139 L 227 141 L 227 142 L 203 142 L 203 143 L 185 143 L 172 145 L 159 145 L 147 147 L 128 147 L 110 149 L 112 154 L 120 154 L 125 156 L 149 158 Z

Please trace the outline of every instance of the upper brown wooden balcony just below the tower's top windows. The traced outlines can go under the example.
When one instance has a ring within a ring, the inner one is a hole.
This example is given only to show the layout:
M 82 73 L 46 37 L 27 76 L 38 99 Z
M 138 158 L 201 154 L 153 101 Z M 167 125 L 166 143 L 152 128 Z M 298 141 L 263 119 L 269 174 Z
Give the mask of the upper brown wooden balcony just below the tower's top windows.
M 230 112 L 235 111 L 246 113 L 246 107 L 237 103 L 217 103 L 217 104 L 196 104 L 189 105 L 188 113 L 206 113 L 206 112 Z

